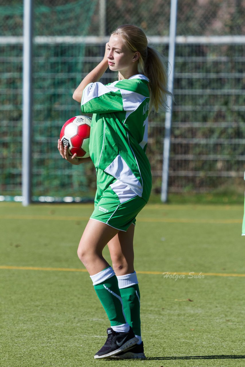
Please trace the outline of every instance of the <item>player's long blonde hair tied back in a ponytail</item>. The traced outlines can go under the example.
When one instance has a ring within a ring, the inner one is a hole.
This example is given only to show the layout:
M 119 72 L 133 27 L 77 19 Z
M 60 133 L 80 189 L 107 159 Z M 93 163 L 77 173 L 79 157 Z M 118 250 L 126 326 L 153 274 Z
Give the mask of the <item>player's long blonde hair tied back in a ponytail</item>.
M 112 34 L 119 34 L 132 52 L 140 52 L 138 72 L 149 79 L 150 108 L 157 112 L 159 108 L 167 108 L 166 96 L 172 95 L 167 90 L 167 71 L 161 56 L 152 47 L 148 47 L 148 40 L 144 31 L 131 24 L 119 26 Z

